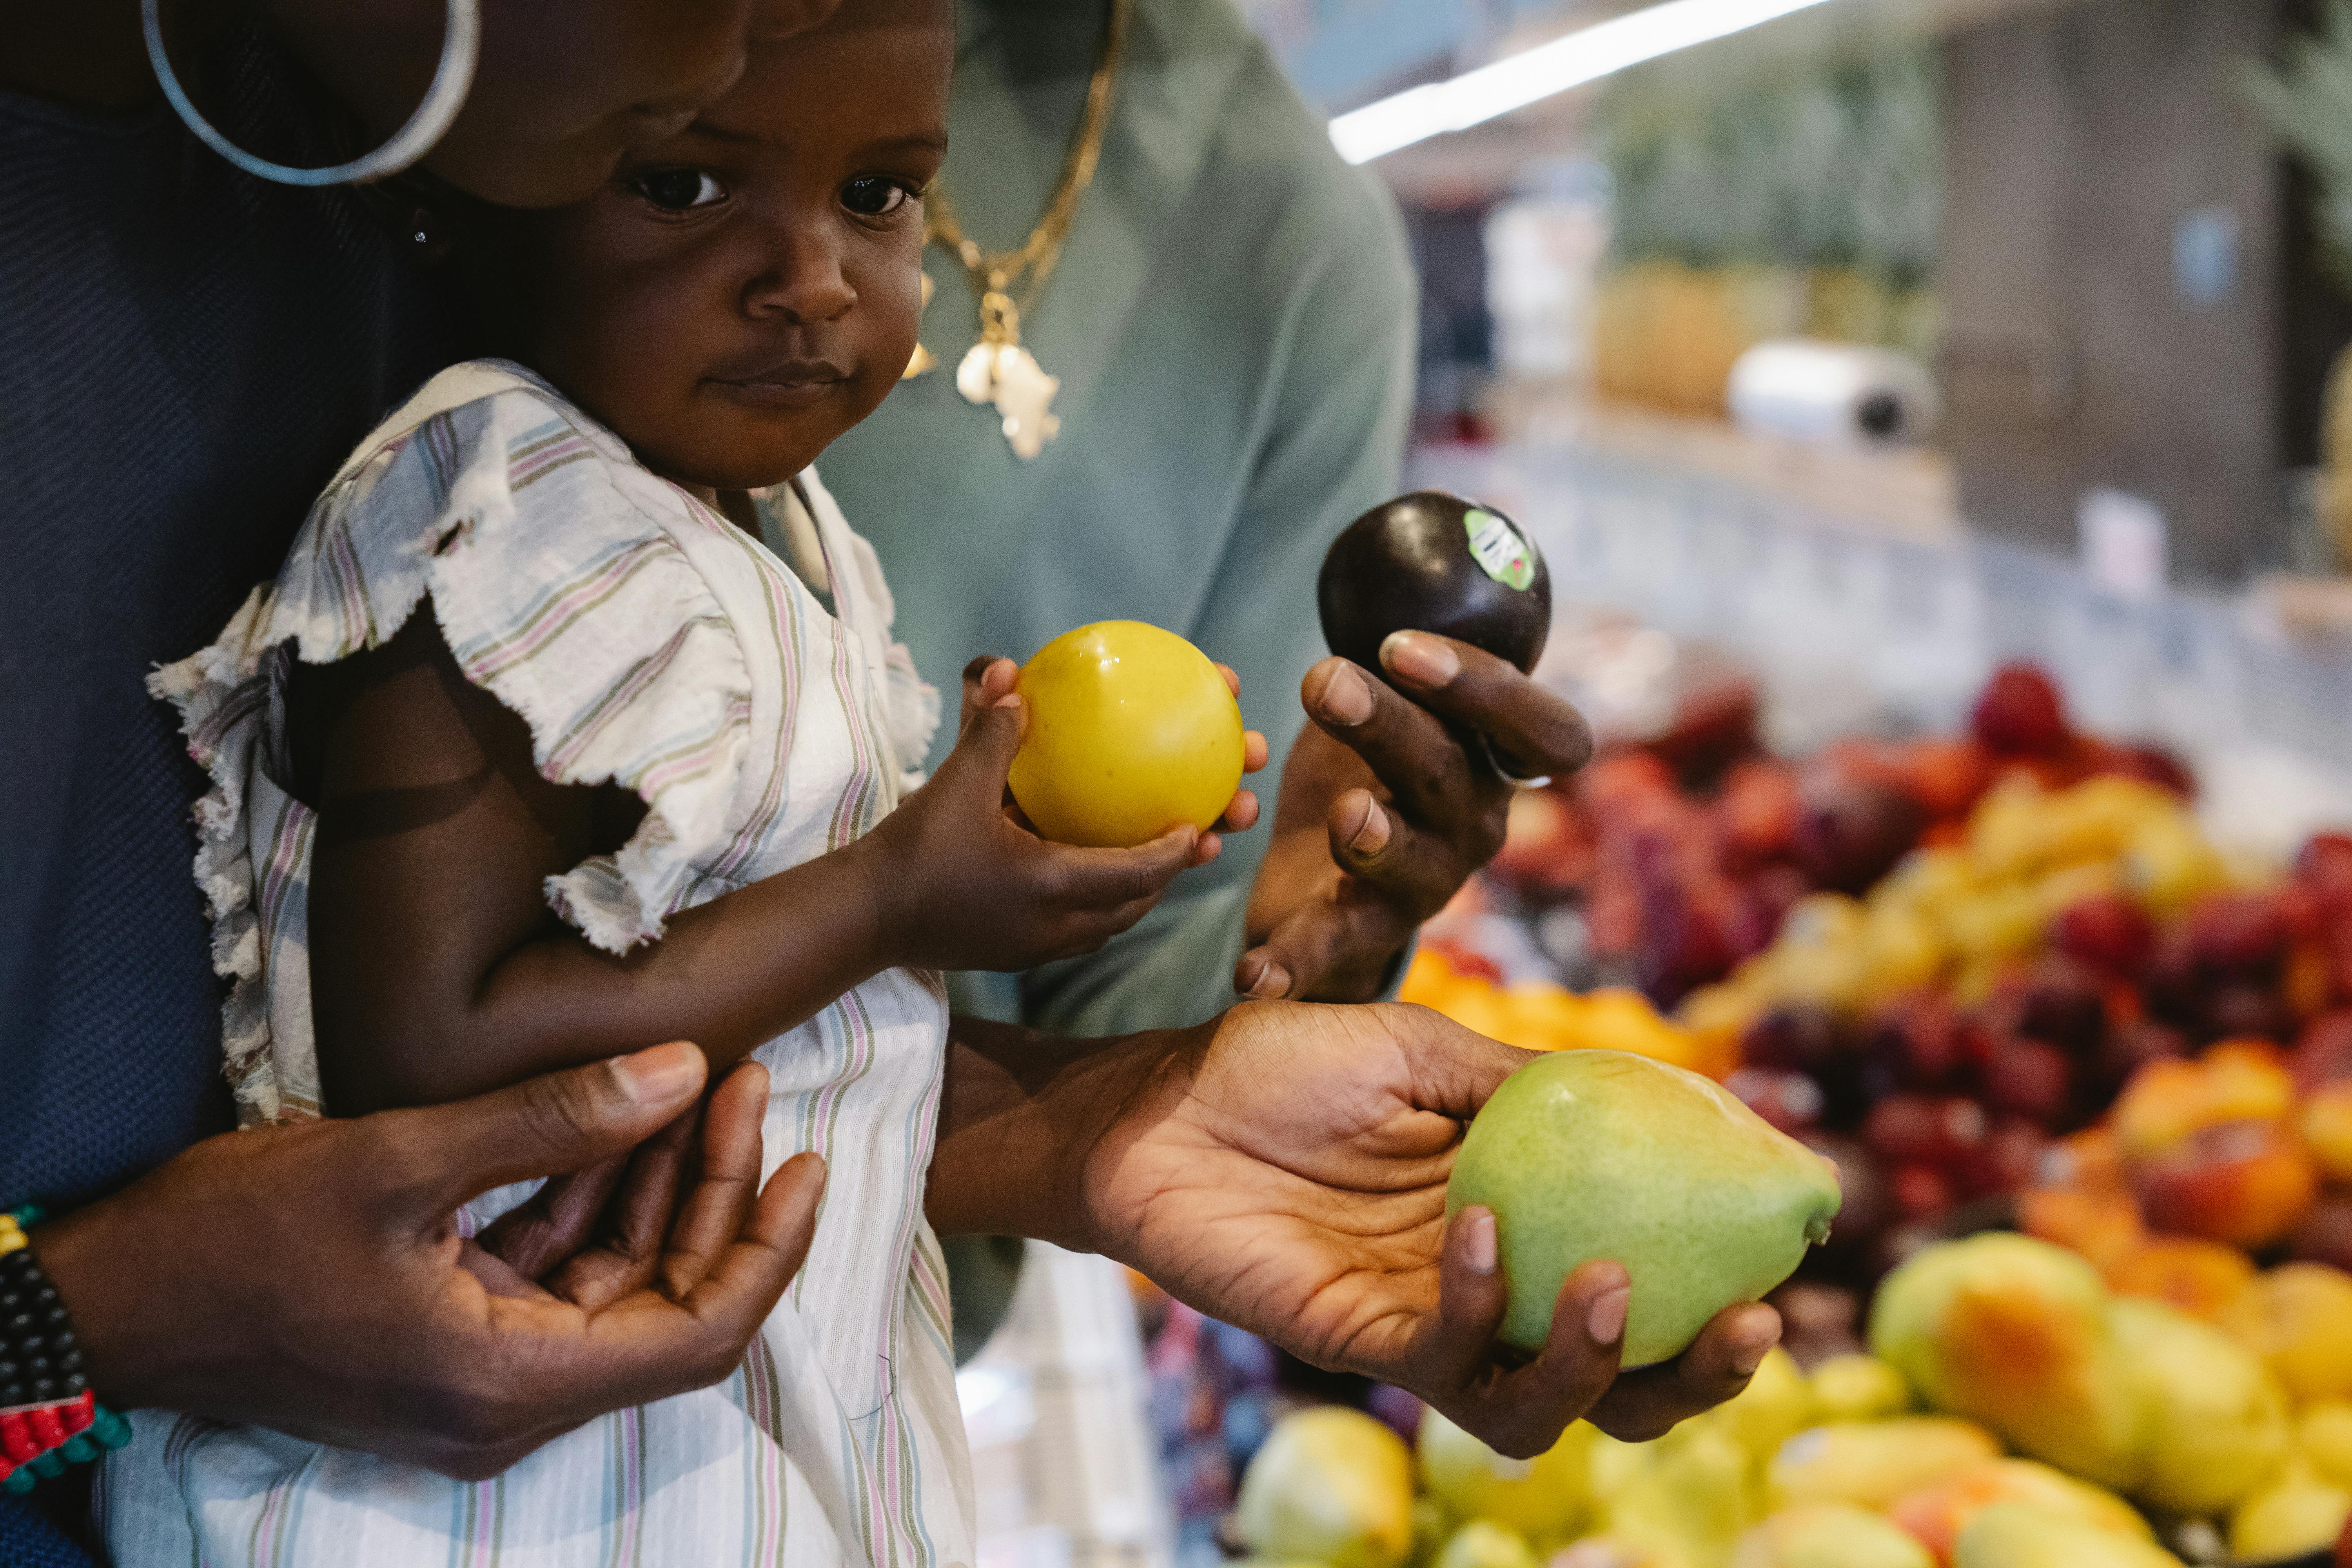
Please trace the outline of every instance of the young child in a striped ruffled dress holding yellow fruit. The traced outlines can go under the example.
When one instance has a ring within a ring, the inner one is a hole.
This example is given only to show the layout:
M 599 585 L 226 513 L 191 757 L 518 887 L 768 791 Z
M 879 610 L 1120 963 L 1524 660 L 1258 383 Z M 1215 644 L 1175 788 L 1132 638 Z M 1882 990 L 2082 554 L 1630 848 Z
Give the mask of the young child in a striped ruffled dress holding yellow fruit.
M 922 1220 L 934 971 L 1091 950 L 1216 839 L 1025 832 L 1002 661 L 920 783 L 936 698 L 807 473 L 915 348 L 950 56 L 948 0 L 844 0 L 612 188 L 517 219 L 501 317 L 532 369 L 435 376 L 155 679 L 214 783 L 247 1121 L 694 1039 L 767 1067 L 769 1171 L 826 1159 L 807 1265 L 727 1382 L 482 1483 L 143 1413 L 101 1476 L 125 1568 L 974 1561 Z M 334 1312 L 332 1279 L 285 1288 Z

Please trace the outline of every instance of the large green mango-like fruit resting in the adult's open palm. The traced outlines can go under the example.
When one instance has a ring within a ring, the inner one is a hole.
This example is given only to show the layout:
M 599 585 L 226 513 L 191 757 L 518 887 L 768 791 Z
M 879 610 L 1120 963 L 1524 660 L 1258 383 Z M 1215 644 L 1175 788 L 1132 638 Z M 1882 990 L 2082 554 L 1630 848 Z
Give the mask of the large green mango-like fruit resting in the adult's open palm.
M 1566 1276 L 1613 1258 L 1632 1276 L 1623 1366 L 1651 1366 L 1788 1279 L 1837 1197 L 1828 1159 L 1722 1084 L 1628 1051 L 1552 1051 L 1470 1124 L 1446 1213 L 1494 1211 L 1503 1340 L 1543 1349 Z

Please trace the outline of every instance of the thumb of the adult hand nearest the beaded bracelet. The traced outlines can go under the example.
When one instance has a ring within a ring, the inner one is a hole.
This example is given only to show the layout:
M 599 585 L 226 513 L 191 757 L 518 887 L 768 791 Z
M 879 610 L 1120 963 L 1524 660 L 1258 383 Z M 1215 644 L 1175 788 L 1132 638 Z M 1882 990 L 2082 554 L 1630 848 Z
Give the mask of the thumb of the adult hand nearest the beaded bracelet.
M 447 1213 L 492 1187 L 564 1175 L 633 1150 L 703 1091 L 710 1065 L 687 1041 L 546 1072 L 454 1105 L 383 1112 L 376 1121 L 428 1161 L 419 1194 Z

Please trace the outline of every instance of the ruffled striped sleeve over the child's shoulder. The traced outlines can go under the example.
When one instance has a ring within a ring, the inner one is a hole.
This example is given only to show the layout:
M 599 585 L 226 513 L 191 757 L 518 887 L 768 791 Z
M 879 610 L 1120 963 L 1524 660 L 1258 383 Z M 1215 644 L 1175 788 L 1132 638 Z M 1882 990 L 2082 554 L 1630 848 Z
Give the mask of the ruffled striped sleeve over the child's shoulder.
M 548 879 L 609 952 L 659 938 L 724 842 L 750 736 L 743 646 L 656 510 L 682 498 L 520 367 L 442 371 L 456 400 L 313 508 L 275 585 L 270 642 L 341 658 L 430 599 L 477 686 L 532 729 L 553 783 L 619 783 L 647 813 L 619 853 Z

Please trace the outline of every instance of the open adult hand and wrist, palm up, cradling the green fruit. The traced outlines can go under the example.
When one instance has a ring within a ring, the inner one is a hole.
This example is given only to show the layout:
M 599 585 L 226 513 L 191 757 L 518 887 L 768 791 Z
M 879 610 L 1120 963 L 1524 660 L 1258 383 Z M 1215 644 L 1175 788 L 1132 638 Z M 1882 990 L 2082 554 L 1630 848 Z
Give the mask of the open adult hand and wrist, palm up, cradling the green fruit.
M 1628 1279 L 1590 1262 L 1534 1361 L 1496 1345 L 1494 1215 L 1444 1215 L 1463 1124 L 1529 1053 L 1428 1009 L 1244 1004 L 1192 1030 L 1042 1039 L 957 1018 L 927 1211 L 1117 1258 L 1312 1361 L 1411 1389 L 1512 1455 L 1583 1415 L 1656 1436 L 1740 1387 L 1780 1338 L 1729 1307 L 1665 1366 L 1618 1375 Z

